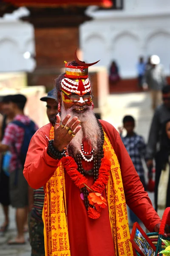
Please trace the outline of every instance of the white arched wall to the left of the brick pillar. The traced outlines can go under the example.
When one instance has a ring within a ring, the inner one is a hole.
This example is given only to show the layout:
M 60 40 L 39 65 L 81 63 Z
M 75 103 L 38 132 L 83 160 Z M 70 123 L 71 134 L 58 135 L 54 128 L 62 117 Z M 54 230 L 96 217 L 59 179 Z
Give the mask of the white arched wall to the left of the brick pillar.
M 0 18 L 0 72 L 31 72 L 36 66 L 34 26 L 19 20 L 25 15 L 21 7 Z

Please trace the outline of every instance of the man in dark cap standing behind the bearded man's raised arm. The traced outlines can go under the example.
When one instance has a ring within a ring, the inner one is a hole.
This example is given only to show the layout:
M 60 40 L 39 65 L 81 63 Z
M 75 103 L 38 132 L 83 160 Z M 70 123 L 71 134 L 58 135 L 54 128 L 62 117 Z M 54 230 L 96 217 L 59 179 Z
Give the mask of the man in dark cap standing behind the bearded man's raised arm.
M 47 116 L 50 121 L 55 118 L 58 113 L 58 103 L 56 101 L 55 89 L 48 92 L 47 96 L 40 100 L 47 102 Z M 29 239 L 31 244 L 31 256 L 45 256 L 44 249 L 44 224 L 42 221 L 42 209 L 44 205 L 44 189 L 32 189 L 28 186 L 28 202 L 29 202 Z

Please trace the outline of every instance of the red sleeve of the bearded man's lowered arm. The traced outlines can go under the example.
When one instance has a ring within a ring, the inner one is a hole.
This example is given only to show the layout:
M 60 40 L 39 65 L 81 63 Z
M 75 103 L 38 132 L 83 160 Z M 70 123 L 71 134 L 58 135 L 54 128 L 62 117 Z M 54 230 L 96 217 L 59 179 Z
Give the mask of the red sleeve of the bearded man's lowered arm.
M 147 192 L 140 181 L 127 150 L 122 143 L 118 131 L 105 121 L 100 121 L 118 157 L 122 181 L 125 191 L 126 203 L 143 222 L 145 227 L 153 232 L 156 224 L 161 222 L 148 197 Z

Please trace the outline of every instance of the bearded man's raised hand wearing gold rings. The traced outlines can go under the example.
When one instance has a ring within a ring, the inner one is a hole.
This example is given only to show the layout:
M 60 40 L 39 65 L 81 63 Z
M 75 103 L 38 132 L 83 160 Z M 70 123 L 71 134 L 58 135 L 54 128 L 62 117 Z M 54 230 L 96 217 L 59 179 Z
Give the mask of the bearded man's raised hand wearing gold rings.
M 75 116 L 70 119 L 70 114 L 68 114 L 65 119 L 62 120 L 59 115 L 56 116 L 56 122 L 54 125 L 54 142 L 53 146 L 59 152 L 62 152 L 65 147 L 71 142 L 77 132 L 82 128 L 79 123 L 78 117 Z

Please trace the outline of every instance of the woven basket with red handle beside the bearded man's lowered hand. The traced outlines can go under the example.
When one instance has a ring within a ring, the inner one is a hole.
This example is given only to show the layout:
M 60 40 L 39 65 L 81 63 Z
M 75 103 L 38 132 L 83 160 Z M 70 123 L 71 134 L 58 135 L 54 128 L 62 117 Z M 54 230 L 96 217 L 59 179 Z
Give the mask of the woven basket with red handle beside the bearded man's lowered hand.
M 158 253 L 161 250 L 165 249 L 165 245 L 164 243 L 161 241 L 161 239 L 164 240 L 168 240 L 170 241 L 170 238 L 168 237 L 164 237 L 164 229 L 165 229 L 165 225 L 166 224 L 170 224 L 170 207 L 167 207 L 164 211 L 164 214 L 162 216 L 162 220 L 161 220 L 161 226 L 159 229 L 159 233 L 153 232 L 153 233 L 147 233 L 147 236 L 149 237 L 149 239 L 153 242 L 153 244 L 156 246 L 156 253 L 155 255 L 158 255 Z M 137 256 L 140 256 L 140 254 L 138 252 L 136 252 Z M 159 256 L 162 256 L 162 254 L 159 254 Z

